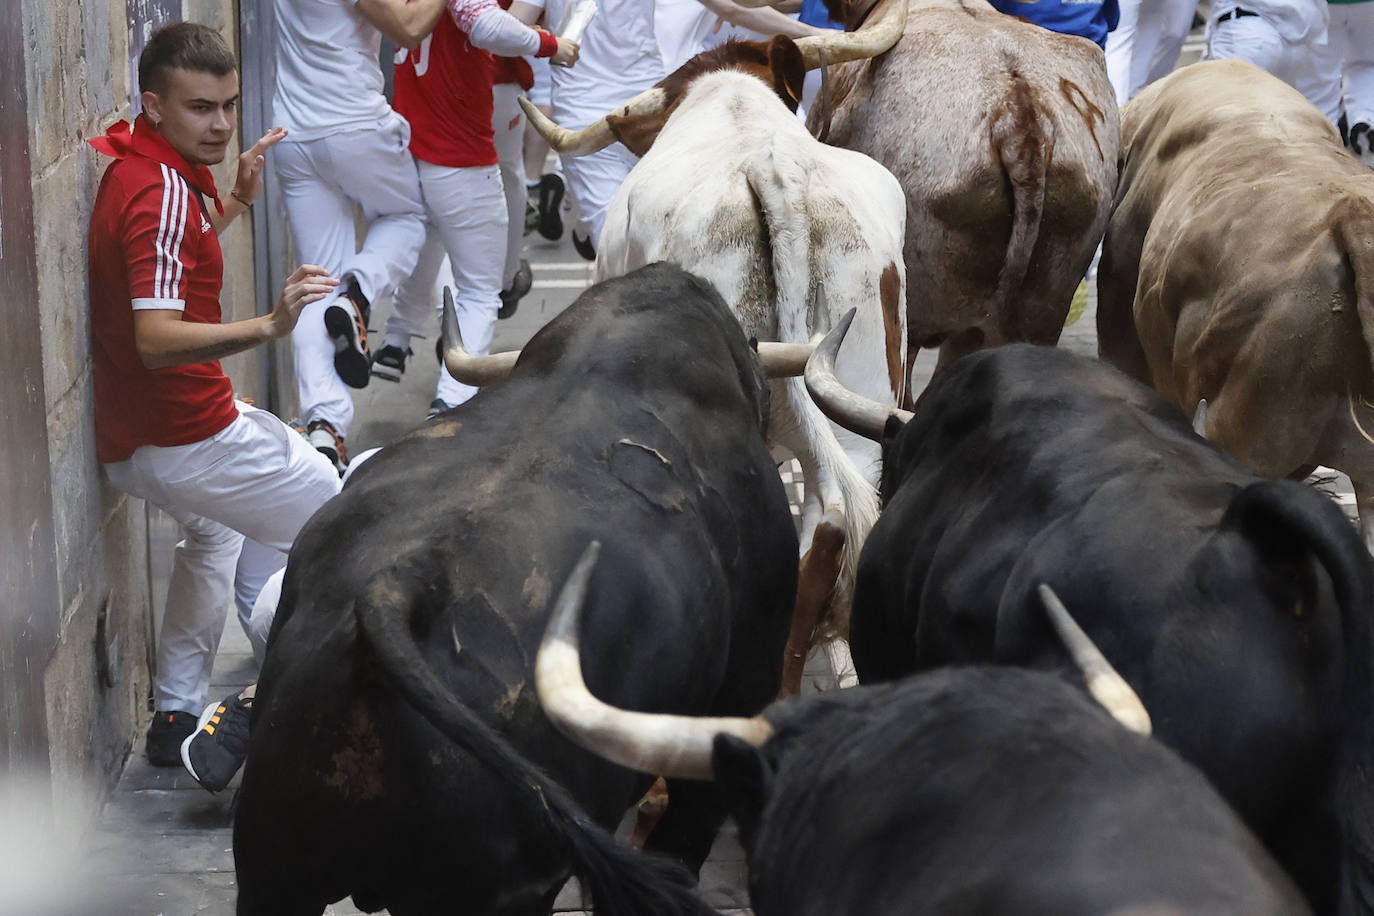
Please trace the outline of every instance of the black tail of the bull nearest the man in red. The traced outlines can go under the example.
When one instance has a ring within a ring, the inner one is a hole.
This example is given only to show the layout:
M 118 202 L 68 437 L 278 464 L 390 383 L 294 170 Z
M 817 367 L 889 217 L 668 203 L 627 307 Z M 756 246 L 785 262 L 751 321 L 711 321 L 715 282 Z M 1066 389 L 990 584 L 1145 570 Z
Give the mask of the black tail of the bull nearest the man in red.
M 691 890 L 692 879 L 677 862 L 621 846 L 596 824 L 566 788 L 517 753 L 434 674 L 411 636 L 411 596 L 416 582 L 389 571 L 374 577 L 356 603 L 359 630 L 376 654 L 400 695 L 445 737 L 493 775 L 522 791 L 548 835 L 563 847 L 573 873 L 596 901 L 598 913 L 614 916 L 706 916 L 713 913 Z

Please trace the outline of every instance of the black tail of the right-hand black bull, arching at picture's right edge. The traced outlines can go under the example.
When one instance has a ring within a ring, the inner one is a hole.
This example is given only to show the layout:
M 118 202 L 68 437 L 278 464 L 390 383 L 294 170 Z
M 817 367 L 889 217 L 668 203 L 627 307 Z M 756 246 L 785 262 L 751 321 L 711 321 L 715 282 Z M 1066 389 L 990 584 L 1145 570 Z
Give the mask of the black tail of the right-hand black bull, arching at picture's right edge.
M 1337 784 L 1330 805 L 1341 825 L 1341 902 L 1333 912 L 1374 912 L 1374 566 L 1329 500 L 1305 483 L 1264 481 L 1241 490 L 1226 519 L 1250 530 L 1294 531 L 1331 580 L 1341 607 L 1344 684 Z

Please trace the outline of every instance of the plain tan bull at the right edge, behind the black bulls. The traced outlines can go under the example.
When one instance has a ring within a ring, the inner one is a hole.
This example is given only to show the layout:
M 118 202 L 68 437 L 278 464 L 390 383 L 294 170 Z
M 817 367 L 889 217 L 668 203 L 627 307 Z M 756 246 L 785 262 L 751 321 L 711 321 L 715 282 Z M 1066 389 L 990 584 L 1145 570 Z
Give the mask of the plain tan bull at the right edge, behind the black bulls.
M 1123 119 L 1098 273 L 1103 358 L 1268 477 L 1348 474 L 1374 547 L 1374 173 L 1307 99 L 1238 60 Z

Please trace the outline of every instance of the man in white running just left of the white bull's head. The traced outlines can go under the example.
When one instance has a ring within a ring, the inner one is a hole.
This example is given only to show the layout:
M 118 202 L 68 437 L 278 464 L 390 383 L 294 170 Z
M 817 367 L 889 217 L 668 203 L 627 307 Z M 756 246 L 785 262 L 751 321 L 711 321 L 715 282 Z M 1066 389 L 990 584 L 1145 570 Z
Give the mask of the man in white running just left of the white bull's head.
M 551 67 L 554 119 L 581 129 L 666 76 L 654 36 L 654 0 L 598 0 L 599 12 L 583 37 L 576 67 Z M 515 0 L 511 14 L 533 23 L 545 16 L 562 22 L 569 0 Z M 583 257 L 595 258 L 606 211 L 639 159 L 620 143 L 592 155 L 567 158 L 563 172 L 577 202 L 578 229 L 573 242 Z

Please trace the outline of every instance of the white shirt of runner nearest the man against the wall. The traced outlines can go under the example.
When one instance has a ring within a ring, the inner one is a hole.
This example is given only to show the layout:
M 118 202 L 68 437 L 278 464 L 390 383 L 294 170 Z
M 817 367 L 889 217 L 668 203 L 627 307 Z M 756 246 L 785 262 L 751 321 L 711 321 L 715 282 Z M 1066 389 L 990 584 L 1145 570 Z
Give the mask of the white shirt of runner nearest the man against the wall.
M 382 33 L 357 0 L 275 0 L 276 93 L 272 121 L 286 140 L 375 128 L 389 121 L 383 95 Z

